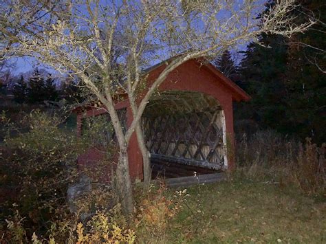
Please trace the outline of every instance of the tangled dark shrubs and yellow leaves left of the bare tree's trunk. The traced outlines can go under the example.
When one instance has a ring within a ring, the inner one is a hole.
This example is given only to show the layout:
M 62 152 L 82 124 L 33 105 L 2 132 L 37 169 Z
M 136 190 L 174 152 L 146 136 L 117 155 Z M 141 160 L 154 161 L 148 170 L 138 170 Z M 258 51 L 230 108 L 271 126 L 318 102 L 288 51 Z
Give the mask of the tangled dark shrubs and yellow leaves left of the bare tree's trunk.
M 91 140 L 94 133 L 104 128 L 100 126 L 109 123 L 96 120 L 94 126 L 76 137 L 76 131 L 67 131 L 62 122 L 58 113 L 50 115 L 36 110 L 17 124 L 6 118 L 3 111 L 1 127 L 17 133 L 7 135 L 0 148 L 1 194 L 12 189 L 1 199 L 1 219 L 7 219 L 6 223 L 0 222 L 2 241 L 133 243 L 135 234 L 127 229 L 117 197 L 109 186 L 102 184 L 101 177 L 109 173 L 107 168 L 76 168 L 76 158 L 89 146 L 106 146 L 109 159 L 111 137 L 107 144 Z M 67 201 L 67 188 L 82 174 L 91 179 L 91 188 L 78 193 L 72 206 Z M 39 237 L 47 236 L 46 233 L 50 233 L 47 240 Z

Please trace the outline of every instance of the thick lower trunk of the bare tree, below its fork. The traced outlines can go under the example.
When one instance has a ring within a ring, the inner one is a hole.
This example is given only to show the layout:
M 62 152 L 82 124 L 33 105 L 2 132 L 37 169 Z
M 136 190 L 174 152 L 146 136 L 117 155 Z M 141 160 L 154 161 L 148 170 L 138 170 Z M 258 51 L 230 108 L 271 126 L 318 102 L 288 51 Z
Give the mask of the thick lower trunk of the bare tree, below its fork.
M 130 219 L 133 214 L 133 192 L 129 175 L 127 148 L 120 148 L 118 166 L 116 168 L 116 187 L 122 211 Z

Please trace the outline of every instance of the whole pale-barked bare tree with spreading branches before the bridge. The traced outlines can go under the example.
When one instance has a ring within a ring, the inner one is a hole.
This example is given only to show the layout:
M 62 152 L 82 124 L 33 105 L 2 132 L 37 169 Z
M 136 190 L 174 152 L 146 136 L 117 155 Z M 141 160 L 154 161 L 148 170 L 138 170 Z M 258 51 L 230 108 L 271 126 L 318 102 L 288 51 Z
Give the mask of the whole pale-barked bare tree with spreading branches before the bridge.
M 0 8 L 6 40 L 1 57 L 39 58 L 78 76 L 104 104 L 120 148 L 116 178 L 122 206 L 129 213 L 133 197 L 127 146 L 135 131 L 148 182 L 149 153 L 140 119 L 166 76 L 187 60 L 214 58 L 248 41 L 259 42 L 262 32 L 291 36 L 314 23 L 293 24 L 289 13 L 296 8 L 294 0 L 276 0 L 261 21 L 254 18 L 261 12 L 261 1 L 255 0 L 6 0 Z M 166 60 L 164 70 L 148 85 L 143 70 L 159 60 Z M 133 113 L 125 132 L 114 108 L 121 92 L 127 93 Z

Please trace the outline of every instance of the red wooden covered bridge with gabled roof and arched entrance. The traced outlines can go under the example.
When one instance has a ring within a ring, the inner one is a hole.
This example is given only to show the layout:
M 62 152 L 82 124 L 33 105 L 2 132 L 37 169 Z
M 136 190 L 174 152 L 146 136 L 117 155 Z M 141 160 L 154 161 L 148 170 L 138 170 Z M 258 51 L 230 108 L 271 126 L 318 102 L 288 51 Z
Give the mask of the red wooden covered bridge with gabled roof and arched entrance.
M 164 67 L 163 62 L 148 69 L 148 82 L 153 82 Z M 227 152 L 228 145 L 233 145 L 232 102 L 248 101 L 250 96 L 213 65 L 199 60 L 189 60 L 177 67 L 159 91 L 142 115 L 153 176 L 180 177 L 193 175 L 194 171 L 205 174 L 232 169 L 235 162 Z M 132 113 L 128 100 L 118 102 L 116 109 L 129 126 Z M 83 118 L 107 113 L 94 107 L 76 111 L 78 133 Z M 142 179 L 142 155 L 135 133 L 128 153 L 131 177 Z M 87 165 L 100 158 L 100 153 L 90 149 L 78 161 Z

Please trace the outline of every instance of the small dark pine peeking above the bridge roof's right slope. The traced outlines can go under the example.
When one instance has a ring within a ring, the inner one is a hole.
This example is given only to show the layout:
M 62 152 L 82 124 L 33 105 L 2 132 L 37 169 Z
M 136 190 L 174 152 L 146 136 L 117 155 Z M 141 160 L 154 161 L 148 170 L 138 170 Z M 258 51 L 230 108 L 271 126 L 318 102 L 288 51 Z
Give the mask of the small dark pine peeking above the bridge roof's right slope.
M 232 60 L 232 56 L 228 50 L 226 50 L 213 63 L 226 77 L 230 78 L 231 80 L 235 80 L 237 78 L 237 66 Z

